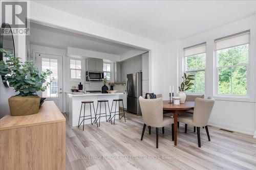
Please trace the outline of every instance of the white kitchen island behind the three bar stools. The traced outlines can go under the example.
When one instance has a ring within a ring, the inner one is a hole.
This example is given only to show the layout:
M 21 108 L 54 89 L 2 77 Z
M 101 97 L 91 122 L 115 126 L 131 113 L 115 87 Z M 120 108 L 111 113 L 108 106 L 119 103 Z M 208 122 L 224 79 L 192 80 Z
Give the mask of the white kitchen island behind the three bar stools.
M 98 100 L 109 100 L 109 106 L 111 109 L 113 100 L 119 99 L 120 94 L 124 94 L 124 93 L 121 93 L 121 92 L 119 92 L 119 93 L 86 93 L 86 94 L 68 93 L 69 125 L 78 126 L 78 120 L 79 120 L 79 114 L 80 114 L 82 101 L 93 101 L 94 107 L 95 107 L 95 112 L 96 112 Z M 93 105 L 91 105 L 91 106 L 92 106 L 92 117 L 94 117 Z M 84 104 L 83 104 L 83 107 L 84 107 Z M 83 115 L 83 107 L 82 107 L 81 116 Z M 117 102 L 117 108 L 119 108 L 118 102 Z M 114 109 L 115 109 L 115 105 L 113 105 L 112 112 Z M 97 113 L 99 113 L 99 110 L 100 110 L 100 105 L 98 106 Z M 104 103 L 102 103 L 101 104 L 101 113 L 104 113 L 104 111 L 105 111 L 105 105 L 104 105 Z M 110 115 L 110 111 L 109 111 L 107 103 L 106 103 L 106 113 L 107 113 L 107 115 Z M 86 115 L 90 115 L 90 105 L 89 104 L 86 104 Z M 109 118 L 109 117 L 107 117 L 107 118 Z M 118 118 L 118 116 L 116 116 L 116 118 Z M 82 118 L 80 119 L 80 122 L 81 122 L 81 120 L 82 120 Z M 101 117 L 101 122 L 103 122 L 103 121 L 105 121 L 105 117 Z M 84 120 L 84 124 L 91 124 L 91 120 L 90 119 Z

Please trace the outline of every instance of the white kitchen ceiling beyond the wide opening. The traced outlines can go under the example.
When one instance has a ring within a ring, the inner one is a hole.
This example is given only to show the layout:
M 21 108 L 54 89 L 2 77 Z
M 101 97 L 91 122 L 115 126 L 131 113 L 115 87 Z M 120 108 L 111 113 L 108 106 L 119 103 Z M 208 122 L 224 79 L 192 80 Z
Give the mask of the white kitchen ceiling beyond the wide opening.
M 101 53 L 122 55 L 138 48 L 101 40 L 65 30 L 30 23 L 30 43 L 67 49 L 68 46 Z

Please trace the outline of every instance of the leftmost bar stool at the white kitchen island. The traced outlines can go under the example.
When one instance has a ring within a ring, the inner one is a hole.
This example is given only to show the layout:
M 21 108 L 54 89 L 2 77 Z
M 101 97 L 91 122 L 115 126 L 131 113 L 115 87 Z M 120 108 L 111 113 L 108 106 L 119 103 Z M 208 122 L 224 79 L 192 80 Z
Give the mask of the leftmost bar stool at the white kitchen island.
M 82 112 L 82 105 L 84 104 L 84 107 L 83 107 L 83 116 L 81 116 L 81 112 Z M 90 112 L 91 114 L 90 115 L 86 115 L 86 104 L 89 104 L 90 105 Z M 94 110 L 94 116 L 95 117 L 92 117 L 92 107 L 91 107 L 91 104 L 93 104 L 93 110 Z M 88 118 L 86 118 L 88 117 Z M 81 123 L 80 123 L 80 118 L 83 118 Z M 92 119 L 94 118 L 94 120 L 92 121 Z M 84 130 L 84 120 L 87 120 L 87 119 L 91 119 L 91 124 L 95 123 L 97 124 L 97 127 L 98 127 L 98 123 L 97 123 L 97 119 L 96 119 L 96 114 L 95 114 L 95 108 L 94 108 L 94 103 L 93 101 L 82 101 L 81 102 L 81 109 L 80 109 L 80 115 L 79 115 L 79 120 L 78 120 L 78 128 L 80 127 L 80 125 L 83 123 L 83 127 L 82 127 L 82 130 Z

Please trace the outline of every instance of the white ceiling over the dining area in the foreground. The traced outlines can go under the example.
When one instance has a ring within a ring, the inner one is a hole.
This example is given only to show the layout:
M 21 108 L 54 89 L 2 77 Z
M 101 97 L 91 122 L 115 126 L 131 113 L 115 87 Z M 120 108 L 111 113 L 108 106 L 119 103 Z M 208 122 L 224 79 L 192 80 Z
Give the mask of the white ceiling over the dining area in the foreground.
M 162 43 L 255 13 L 255 1 L 36 1 Z

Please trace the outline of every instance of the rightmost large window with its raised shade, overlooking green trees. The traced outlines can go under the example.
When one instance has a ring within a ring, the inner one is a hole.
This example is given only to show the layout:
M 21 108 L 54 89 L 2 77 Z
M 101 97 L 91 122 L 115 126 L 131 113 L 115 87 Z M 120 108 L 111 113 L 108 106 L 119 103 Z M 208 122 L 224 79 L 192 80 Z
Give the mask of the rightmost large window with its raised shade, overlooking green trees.
M 249 30 L 215 40 L 217 94 L 246 95 L 248 93 L 249 43 Z

